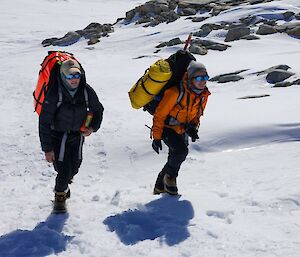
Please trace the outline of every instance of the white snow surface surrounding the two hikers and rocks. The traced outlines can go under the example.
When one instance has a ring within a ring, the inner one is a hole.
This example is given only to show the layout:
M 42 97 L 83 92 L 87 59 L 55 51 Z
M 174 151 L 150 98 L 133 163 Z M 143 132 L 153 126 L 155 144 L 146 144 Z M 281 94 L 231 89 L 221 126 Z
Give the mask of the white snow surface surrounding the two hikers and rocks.
M 182 47 L 153 54 L 159 42 L 184 40 L 208 22 L 299 13 L 298 0 L 239 6 L 202 23 L 119 23 L 92 47 L 81 40 L 59 48 L 81 61 L 105 113 L 86 140 L 69 214 L 51 215 L 55 172 L 40 149 L 32 91 L 39 64 L 58 48 L 40 42 L 91 22 L 113 23 L 144 2 L 1 0 L 0 256 L 299 256 L 300 89 L 272 88 L 265 75 L 251 75 L 287 64 L 296 73 L 289 80 L 299 78 L 298 39 L 260 36 L 197 57 L 211 76 L 249 70 L 239 82 L 208 84 L 212 95 L 200 140 L 182 165 L 178 197 L 152 195 L 167 147 L 152 150 L 144 126 L 151 116 L 132 109 L 127 94 L 151 63 Z M 208 38 L 223 42 L 224 33 Z M 270 97 L 237 99 L 255 94 Z

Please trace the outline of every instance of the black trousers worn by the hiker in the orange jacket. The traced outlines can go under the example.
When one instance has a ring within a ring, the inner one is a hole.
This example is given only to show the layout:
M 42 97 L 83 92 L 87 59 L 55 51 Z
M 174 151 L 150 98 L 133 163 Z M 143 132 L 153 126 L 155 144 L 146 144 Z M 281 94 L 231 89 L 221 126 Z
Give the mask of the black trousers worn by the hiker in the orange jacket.
M 181 164 L 185 161 L 188 155 L 188 139 L 186 134 L 179 135 L 173 129 L 164 128 L 163 141 L 169 147 L 168 161 L 163 167 L 160 175 L 170 175 L 171 178 L 176 178 Z

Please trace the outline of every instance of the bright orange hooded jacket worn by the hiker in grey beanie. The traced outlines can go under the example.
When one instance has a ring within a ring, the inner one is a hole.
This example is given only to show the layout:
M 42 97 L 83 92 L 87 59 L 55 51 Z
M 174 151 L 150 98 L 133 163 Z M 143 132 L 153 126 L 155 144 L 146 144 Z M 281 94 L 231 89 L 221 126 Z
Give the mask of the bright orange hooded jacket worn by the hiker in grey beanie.
M 162 139 L 164 127 L 175 130 L 178 134 L 185 132 L 187 123 L 200 124 L 200 116 L 203 115 L 210 92 L 207 88 L 198 96 L 187 88 L 186 74 L 182 79 L 184 96 L 176 103 L 179 96 L 178 87 L 168 88 L 153 115 L 152 137 Z M 171 125 L 171 120 L 174 125 Z M 170 121 L 170 122 L 168 122 Z M 174 122 L 175 121 L 175 122 Z

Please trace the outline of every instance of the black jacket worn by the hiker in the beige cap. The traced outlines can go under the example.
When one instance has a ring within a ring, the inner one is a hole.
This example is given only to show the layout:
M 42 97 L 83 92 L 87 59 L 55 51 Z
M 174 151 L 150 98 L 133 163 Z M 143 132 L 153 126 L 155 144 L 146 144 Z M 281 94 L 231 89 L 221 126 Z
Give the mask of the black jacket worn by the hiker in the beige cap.
M 86 83 L 84 73 L 81 76 L 78 90 L 73 98 L 63 86 L 59 70 L 54 71 L 53 74 L 51 74 L 49 90 L 39 116 L 39 136 L 44 152 L 53 150 L 53 134 L 63 134 L 64 132 L 79 133 L 80 127 L 87 115 L 84 89 L 86 89 L 88 94 L 89 111 L 93 113 L 93 120 L 90 127 L 93 128 L 94 132 L 100 128 L 104 111 L 95 91 Z M 59 87 L 61 88 L 63 97 L 60 106 L 57 107 Z

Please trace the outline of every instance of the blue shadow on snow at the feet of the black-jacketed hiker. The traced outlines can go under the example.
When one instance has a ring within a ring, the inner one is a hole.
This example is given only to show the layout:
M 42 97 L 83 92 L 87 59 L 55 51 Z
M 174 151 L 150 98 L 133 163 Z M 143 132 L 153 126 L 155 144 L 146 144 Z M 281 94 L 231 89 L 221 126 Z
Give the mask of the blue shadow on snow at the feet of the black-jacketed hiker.
M 44 257 L 66 250 L 73 237 L 62 233 L 68 214 L 50 214 L 33 230 L 15 230 L 0 237 L 0 256 Z

